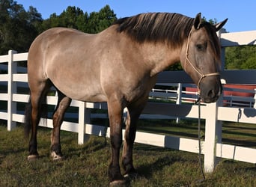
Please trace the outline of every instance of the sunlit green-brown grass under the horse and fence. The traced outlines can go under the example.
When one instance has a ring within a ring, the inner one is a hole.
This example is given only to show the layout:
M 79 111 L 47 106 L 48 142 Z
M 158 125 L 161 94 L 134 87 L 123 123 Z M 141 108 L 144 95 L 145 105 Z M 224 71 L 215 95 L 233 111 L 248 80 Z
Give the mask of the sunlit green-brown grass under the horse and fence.
M 139 122 L 143 129 L 147 122 Z M 164 123 L 154 123 L 155 129 L 169 128 L 168 132 L 174 135 L 180 135 L 178 132 L 182 129 L 183 135 L 196 134 L 193 123 L 189 124 L 189 130 L 187 124 L 167 128 Z M 223 135 L 227 141 L 234 137 L 242 141 L 242 137 L 246 137 L 246 141 L 255 142 L 255 126 L 249 128 L 249 135 L 246 135 L 248 129 L 243 132 L 240 124 L 228 124 L 224 126 Z M 253 133 L 254 137 L 251 137 Z M 106 144 L 105 138 L 92 136 L 79 145 L 76 133 L 61 132 L 65 159 L 53 162 L 49 158 L 49 138 L 50 130 L 40 128 L 40 158 L 28 162 L 28 142 L 23 137 L 22 125 L 11 132 L 7 132 L 5 125 L 0 125 L 0 186 L 108 186 L 109 139 Z M 201 173 L 197 154 L 135 144 L 133 159 L 138 176 L 129 178 L 127 186 L 256 186 L 256 167 L 245 162 L 222 159 L 215 171 L 198 183 Z

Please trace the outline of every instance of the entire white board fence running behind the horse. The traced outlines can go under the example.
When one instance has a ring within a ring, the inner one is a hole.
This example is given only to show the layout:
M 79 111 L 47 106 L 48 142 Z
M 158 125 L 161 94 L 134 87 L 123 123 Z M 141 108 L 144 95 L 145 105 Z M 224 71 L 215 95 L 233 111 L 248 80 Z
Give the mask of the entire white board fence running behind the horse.
M 219 37 L 221 38 L 223 54 L 225 52 L 225 46 L 256 44 L 256 31 L 225 33 L 219 34 Z M 2 110 L 1 108 L 3 107 L 0 106 L 0 119 L 7 120 L 8 131 L 16 126 L 16 122 L 24 122 L 24 115 L 17 112 L 16 103 L 28 102 L 29 96 L 27 94 L 17 93 L 17 84 L 27 84 L 27 74 L 17 73 L 16 62 L 26 61 L 27 57 L 28 53 L 16 54 L 16 52 L 13 51 L 9 51 L 8 55 L 0 56 L 0 64 L 7 64 L 8 67 L 7 73 L 0 74 L 0 83 L 7 85 L 7 91 L 0 90 L 1 103 L 7 102 L 7 111 Z M 180 85 L 180 82 L 184 84 L 192 83 L 192 80 L 184 72 L 162 72 L 159 74 L 157 84 L 170 84 L 170 80 L 171 83 L 177 85 Z M 256 85 L 256 70 L 223 70 L 222 82 L 223 84 Z M 179 97 L 182 95 L 180 87 L 178 88 L 176 93 L 171 93 L 172 96 L 175 97 L 176 95 Z M 151 96 L 153 96 L 153 94 L 154 93 L 151 93 Z M 57 97 L 47 96 L 47 102 L 49 105 L 55 105 L 57 103 Z M 255 102 L 255 98 L 252 98 L 252 103 L 253 102 Z M 224 107 L 222 103 L 222 98 L 220 98 L 216 103 L 201 105 L 201 118 L 205 119 L 205 140 L 202 141 L 202 153 L 204 154 L 204 170 L 206 172 L 213 171 L 218 162 L 218 158 L 256 163 L 256 149 L 222 144 L 222 121 L 255 123 L 255 105 L 251 108 Z M 91 124 L 92 114 L 89 109 L 106 109 L 106 103 L 79 102 L 73 100 L 71 105 L 79 108 L 79 122 L 71 123 L 64 121 L 61 129 L 77 132 L 79 144 L 84 143 L 85 134 L 106 135 L 109 137 L 109 129 L 106 129 L 104 126 Z M 156 114 L 158 117 L 160 115 L 165 117 L 198 118 L 198 105 L 181 104 L 180 99 L 177 99 L 176 104 L 148 102 L 144 108 L 143 114 Z M 52 128 L 52 120 L 47 119 L 46 123 L 40 123 L 40 126 Z M 196 139 L 137 132 L 135 142 L 198 153 L 198 140 Z

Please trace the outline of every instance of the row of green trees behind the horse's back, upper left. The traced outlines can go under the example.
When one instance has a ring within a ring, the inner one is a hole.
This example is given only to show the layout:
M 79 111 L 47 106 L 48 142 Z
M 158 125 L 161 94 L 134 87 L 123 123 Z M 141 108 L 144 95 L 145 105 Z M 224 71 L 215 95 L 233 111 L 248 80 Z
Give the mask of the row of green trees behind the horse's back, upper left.
M 0 0 L 0 54 L 7 54 L 10 49 L 28 52 L 34 38 L 49 28 L 76 28 L 95 34 L 109 27 L 115 19 L 114 10 L 109 5 L 90 14 L 79 7 L 69 6 L 59 16 L 52 13 L 49 19 L 43 20 L 34 7 L 25 11 L 16 1 Z

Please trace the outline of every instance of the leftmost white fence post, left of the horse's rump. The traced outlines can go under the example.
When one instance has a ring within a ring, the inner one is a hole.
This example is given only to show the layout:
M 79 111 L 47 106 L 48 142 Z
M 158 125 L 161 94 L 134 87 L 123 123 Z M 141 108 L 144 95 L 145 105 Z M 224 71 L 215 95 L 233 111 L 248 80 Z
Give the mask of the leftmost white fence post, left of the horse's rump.
M 13 114 L 16 113 L 16 102 L 13 102 L 13 93 L 16 93 L 16 82 L 13 82 L 13 73 L 17 73 L 17 64 L 13 63 L 13 54 L 16 51 L 8 51 L 8 101 L 7 101 L 7 131 L 15 128 L 16 122 L 13 121 Z

